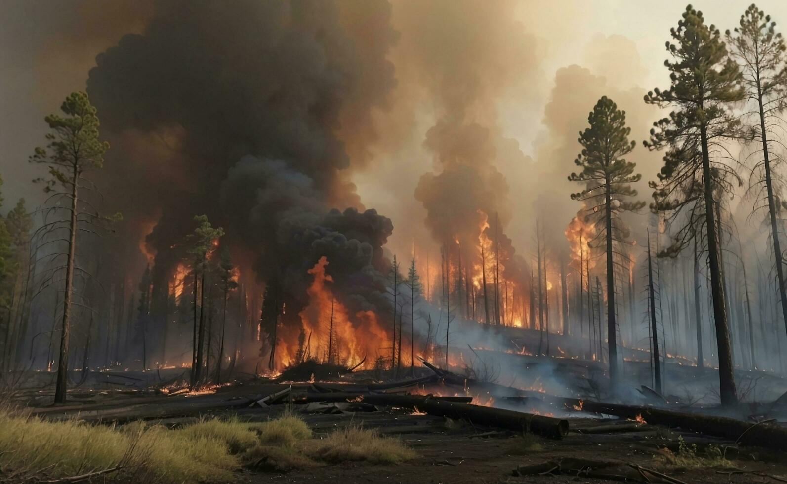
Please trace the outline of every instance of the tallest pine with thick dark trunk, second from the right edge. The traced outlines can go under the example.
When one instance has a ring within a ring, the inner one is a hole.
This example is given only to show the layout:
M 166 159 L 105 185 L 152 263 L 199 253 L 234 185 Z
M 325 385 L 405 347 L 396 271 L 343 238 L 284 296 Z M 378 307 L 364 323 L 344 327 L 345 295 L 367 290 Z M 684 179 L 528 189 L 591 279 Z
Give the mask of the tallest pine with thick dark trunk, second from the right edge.
M 648 104 L 674 107 L 669 116 L 653 124 L 650 141 L 645 141 L 650 150 L 670 146 L 659 181 L 650 183 L 655 189 L 651 208 L 654 212 L 670 213 L 671 221 L 684 209 L 690 212 L 672 246 L 660 255 L 676 256 L 703 233 L 704 225 L 719 350 L 719 393 L 722 405 L 730 406 L 737 403 L 737 394 L 714 207 L 719 191 L 732 192 L 730 180 L 737 179 L 737 174 L 726 164 L 711 161 L 711 155 L 724 150 L 719 143 L 722 139 L 735 135 L 737 122 L 729 104 L 743 98 L 737 85 L 741 73 L 728 57 L 719 29 L 706 25 L 702 13 L 691 6 L 686 7 L 671 35 L 674 42 L 667 42 L 667 51 L 674 61 L 664 63 L 671 72 L 671 87 L 645 95 Z

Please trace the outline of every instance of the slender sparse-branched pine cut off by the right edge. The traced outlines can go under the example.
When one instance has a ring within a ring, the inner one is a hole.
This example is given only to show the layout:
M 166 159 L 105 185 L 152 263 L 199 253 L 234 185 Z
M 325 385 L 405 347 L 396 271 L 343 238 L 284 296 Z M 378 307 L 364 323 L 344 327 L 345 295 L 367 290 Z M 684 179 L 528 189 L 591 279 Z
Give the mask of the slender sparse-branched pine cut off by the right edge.
M 769 136 L 770 127 L 781 120 L 779 115 L 787 101 L 787 57 L 785 42 L 781 33 L 775 31 L 776 23 L 770 20 L 756 5 L 752 4 L 741 15 L 740 27 L 734 32 L 726 31 L 732 46 L 731 53 L 741 67 L 741 85 L 749 103 L 756 104 L 753 113 L 752 136 L 762 144 L 756 153 L 762 156 L 754 167 L 756 176 L 752 180 L 756 186 L 763 184 L 766 189 L 767 210 L 770 222 L 770 237 L 774 244 L 776 281 L 781 301 L 781 314 L 787 331 L 787 293 L 785 293 L 784 264 L 779 241 L 776 216 L 779 211 L 778 198 L 774 195 L 774 164 L 779 160 L 774 155 L 775 145 L 781 144 Z M 761 193 L 761 192 L 760 192 Z M 760 201 L 758 196 L 757 202 Z M 758 204 L 759 205 L 759 204 Z

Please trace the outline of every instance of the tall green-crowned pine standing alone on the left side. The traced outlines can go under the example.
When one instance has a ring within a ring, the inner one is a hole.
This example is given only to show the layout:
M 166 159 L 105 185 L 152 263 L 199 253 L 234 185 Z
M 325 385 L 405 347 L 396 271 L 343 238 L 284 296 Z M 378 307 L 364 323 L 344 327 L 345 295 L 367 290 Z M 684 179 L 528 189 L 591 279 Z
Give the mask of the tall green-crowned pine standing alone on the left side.
M 55 272 L 64 271 L 65 295 L 63 297 L 63 318 L 60 338 L 60 357 L 57 366 L 57 383 L 55 386 L 55 403 L 65 403 L 66 385 L 68 383 L 68 338 L 70 336 L 71 309 L 74 296 L 74 272 L 87 275 L 81 268 L 77 268 L 76 235 L 79 231 L 91 231 L 86 225 L 95 226 L 102 220 L 107 220 L 98 215 L 92 205 L 80 198 L 80 190 L 94 190 L 92 183 L 84 175 L 92 169 L 102 168 L 104 153 L 109 149 L 108 142 L 98 140 L 98 115 L 91 105 L 87 94 L 75 92 L 68 95 L 61 105 L 65 116 L 50 114 L 46 116 L 46 124 L 50 132 L 46 134 L 49 144 L 46 148 L 36 147 L 35 153 L 30 157 L 31 162 L 42 163 L 49 166 L 49 179 L 36 179 L 45 183 L 44 191 L 51 193 L 48 201 L 59 201 L 65 198 L 70 201 L 70 207 L 54 205 L 54 212 L 67 212 L 68 220 L 56 220 L 46 224 L 50 226 L 45 230 L 64 230 L 68 238 L 61 238 L 67 243 L 65 265 L 57 266 Z M 61 188 L 57 188 L 61 187 Z M 61 191 L 62 190 L 62 191 Z M 115 218 L 119 218 L 116 216 Z M 45 227 L 46 227 L 45 226 Z M 54 273 L 52 274 L 54 281 Z

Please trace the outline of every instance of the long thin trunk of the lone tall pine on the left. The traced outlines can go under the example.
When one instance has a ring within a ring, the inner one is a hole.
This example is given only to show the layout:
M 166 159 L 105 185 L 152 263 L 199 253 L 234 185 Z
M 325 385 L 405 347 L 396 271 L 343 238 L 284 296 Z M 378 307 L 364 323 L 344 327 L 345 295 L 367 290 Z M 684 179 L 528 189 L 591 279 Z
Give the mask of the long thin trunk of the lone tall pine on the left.
M 72 166 L 73 178 L 71 181 L 71 222 L 68 225 L 68 260 L 65 266 L 65 296 L 63 297 L 63 326 L 60 335 L 60 358 L 57 364 L 57 383 L 54 390 L 54 403 L 65 404 L 65 395 L 68 386 L 68 338 L 71 334 L 71 303 L 74 290 L 74 257 L 76 254 L 76 215 L 77 195 L 79 187 L 79 167 Z

